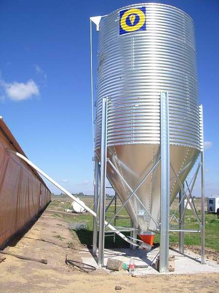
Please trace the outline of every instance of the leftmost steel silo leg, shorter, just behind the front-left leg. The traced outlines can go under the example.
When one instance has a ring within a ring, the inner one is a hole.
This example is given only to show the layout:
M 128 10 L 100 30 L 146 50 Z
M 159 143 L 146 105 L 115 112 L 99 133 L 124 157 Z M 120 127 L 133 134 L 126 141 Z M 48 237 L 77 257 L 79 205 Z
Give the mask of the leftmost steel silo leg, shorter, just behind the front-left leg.
M 98 208 L 98 191 L 99 191 L 99 160 L 97 156 L 95 156 L 93 209 L 96 214 L 97 214 L 97 208 Z M 93 217 L 92 254 L 96 255 L 96 251 L 97 251 L 97 218 Z

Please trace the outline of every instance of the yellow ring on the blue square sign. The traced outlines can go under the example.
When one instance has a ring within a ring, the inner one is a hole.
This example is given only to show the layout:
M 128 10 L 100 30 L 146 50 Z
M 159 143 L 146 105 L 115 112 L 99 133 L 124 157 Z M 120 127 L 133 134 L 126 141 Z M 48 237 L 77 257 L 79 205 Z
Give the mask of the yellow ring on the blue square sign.
M 139 17 L 139 21 L 135 25 L 129 26 L 126 23 L 126 20 L 132 14 L 133 15 L 137 14 Z M 140 29 L 144 25 L 144 23 L 145 23 L 145 13 L 142 10 L 136 9 L 136 8 L 131 8 L 131 9 L 127 10 L 124 13 L 124 15 L 122 16 L 121 21 L 120 21 L 120 25 L 121 25 L 122 29 L 127 32 L 133 32 L 133 31 Z

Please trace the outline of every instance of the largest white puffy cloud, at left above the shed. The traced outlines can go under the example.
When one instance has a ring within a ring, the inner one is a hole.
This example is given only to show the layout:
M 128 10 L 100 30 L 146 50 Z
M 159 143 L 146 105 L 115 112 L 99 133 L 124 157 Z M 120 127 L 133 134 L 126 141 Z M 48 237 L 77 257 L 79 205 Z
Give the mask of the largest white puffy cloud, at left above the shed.
M 32 79 L 26 83 L 5 83 L 4 81 L 1 81 L 0 86 L 2 86 L 9 99 L 17 102 L 39 95 L 38 86 Z

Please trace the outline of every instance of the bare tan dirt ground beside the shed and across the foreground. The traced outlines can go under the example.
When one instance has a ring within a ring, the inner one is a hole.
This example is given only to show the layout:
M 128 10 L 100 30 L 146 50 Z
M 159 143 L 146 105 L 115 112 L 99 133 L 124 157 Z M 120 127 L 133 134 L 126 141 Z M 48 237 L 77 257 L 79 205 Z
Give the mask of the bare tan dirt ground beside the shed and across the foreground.
M 69 244 L 74 249 L 66 248 Z M 77 235 L 70 232 L 68 224 L 49 211 L 45 211 L 32 228 L 5 251 L 47 259 L 48 264 L 1 254 L 1 257 L 6 256 L 0 263 L 0 292 L 4 293 L 111 293 L 115 292 L 116 285 L 122 287 L 121 292 L 219 292 L 217 273 L 132 277 L 104 270 L 89 274 L 75 271 L 65 264 L 66 254 L 68 258 L 80 261 L 89 252 L 80 244 Z

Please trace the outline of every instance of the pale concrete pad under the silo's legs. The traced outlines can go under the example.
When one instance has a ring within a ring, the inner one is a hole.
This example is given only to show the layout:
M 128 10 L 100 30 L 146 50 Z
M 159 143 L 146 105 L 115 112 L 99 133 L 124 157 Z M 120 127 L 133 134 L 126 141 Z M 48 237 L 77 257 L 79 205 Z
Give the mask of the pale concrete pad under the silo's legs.
M 129 264 L 129 260 L 132 257 L 135 265 L 148 265 L 147 268 L 137 268 L 135 275 L 159 274 L 154 266 L 151 266 L 155 263 L 159 250 L 160 248 L 157 247 L 146 254 L 143 250 L 106 249 L 104 253 L 104 264 L 107 264 L 108 258 L 115 258 Z M 206 260 L 206 263 L 201 265 L 201 256 L 191 251 L 187 251 L 186 254 L 181 254 L 176 250 L 170 249 L 169 255 L 175 256 L 175 272 L 168 272 L 168 274 L 219 272 L 219 264 L 216 261 Z M 98 268 L 97 258 L 94 258 L 92 255 L 90 257 L 82 257 L 82 261 Z

